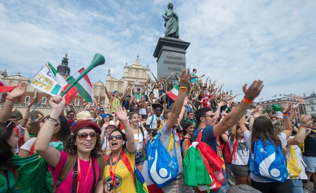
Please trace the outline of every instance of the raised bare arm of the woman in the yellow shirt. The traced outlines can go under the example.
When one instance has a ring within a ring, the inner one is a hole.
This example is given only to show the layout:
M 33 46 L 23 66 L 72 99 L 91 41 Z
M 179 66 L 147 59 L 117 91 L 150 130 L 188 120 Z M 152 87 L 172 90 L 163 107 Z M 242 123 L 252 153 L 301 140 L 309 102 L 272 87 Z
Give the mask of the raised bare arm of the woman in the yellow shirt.
M 120 108 L 120 107 L 115 107 L 115 116 L 123 124 L 126 139 L 128 141 L 128 143 L 126 143 L 127 151 L 134 153 L 136 151 L 134 134 L 133 134 L 133 131 L 131 131 L 131 128 L 129 126 L 129 122 L 127 119 L 127 114 L 125 112 L 125 108 L 122 110 L 122 108 Z

